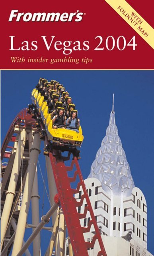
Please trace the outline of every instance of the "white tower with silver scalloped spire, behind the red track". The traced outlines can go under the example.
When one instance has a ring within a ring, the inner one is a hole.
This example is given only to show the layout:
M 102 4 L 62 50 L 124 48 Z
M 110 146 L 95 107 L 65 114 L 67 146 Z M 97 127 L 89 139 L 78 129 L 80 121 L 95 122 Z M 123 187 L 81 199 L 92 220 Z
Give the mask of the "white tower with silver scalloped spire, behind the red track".
M 118 135 L 114 110 L 111 111 L 109 126 L 97 151 L 90 175 L 84 182 L 107 256 L 151 256 L 147 251 L 146 200 L 133 182 Z M 82 190 L 76 196 L 77 199 L 80 200 L 81 195 Z M 78 207 L 78 212 L 83 213 L 85 206 L 83 204 Z M 89 212 L 81 220 L 84 227 L 90 221 L 88 214 Z M 93 228 L 84 234 L 87 242 L 92 241 L 93 236 Z M 89 248 L 89 255 L 97 255 L 98 250 L 96 244 L 94 248 Z

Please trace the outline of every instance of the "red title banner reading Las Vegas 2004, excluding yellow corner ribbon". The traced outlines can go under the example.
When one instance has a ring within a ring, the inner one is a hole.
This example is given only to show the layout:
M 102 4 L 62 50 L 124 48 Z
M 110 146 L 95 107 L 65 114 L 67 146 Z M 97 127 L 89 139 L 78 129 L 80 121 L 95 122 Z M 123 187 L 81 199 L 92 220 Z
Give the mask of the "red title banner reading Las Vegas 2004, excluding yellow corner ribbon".
M 151 0 L 127 2 L 154 27 Z M 152 47 L 105 0 L 5 1 L 0 19 L 1 69 L 153 68 Z

